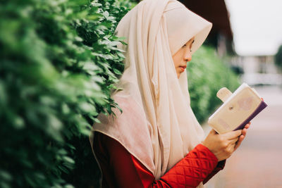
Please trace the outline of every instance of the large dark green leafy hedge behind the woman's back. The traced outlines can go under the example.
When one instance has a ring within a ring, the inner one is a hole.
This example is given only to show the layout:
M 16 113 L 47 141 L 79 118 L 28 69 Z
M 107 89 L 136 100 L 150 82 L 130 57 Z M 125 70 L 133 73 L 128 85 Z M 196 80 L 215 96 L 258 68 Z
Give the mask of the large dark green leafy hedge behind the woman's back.
M 124 56 L 114 30 L 131 6 L 1 1 L 0 187 L 97 187 L 88 134 L 117 106 L 109 94 Z

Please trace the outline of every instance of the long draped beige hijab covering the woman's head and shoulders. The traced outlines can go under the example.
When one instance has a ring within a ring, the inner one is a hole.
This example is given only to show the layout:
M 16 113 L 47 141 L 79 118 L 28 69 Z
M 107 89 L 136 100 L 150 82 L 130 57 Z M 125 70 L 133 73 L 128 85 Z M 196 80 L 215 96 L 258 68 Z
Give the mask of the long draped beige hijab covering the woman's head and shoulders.
M 141 1 L 118 23 L 118 36 L 126 37 L 128 46 L 119 46 L 126 51 L 117 86 L 123 90 L 112 98 L 123 113 L 100 114 L 93 132 L 120 142 L 156 180 L 204 137 L 190 107 L 186 71 L 178 79 L 172 55 L 194 36 L 195 52 L 211 28 L 176 0 Z

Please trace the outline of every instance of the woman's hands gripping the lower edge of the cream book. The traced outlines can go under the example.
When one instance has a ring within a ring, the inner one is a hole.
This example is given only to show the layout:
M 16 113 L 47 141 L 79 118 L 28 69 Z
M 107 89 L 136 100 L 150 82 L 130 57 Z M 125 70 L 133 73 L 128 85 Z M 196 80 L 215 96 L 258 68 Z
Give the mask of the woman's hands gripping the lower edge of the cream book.
M 229 158 L 238 149 L 249 127 L 250 123 L 247 123 L 243 130 L 235 130 L 225 134 L 218 134 L 215 130 L 211 130 L 202 144 L 212 151 L 219 161 L 222 161 Z

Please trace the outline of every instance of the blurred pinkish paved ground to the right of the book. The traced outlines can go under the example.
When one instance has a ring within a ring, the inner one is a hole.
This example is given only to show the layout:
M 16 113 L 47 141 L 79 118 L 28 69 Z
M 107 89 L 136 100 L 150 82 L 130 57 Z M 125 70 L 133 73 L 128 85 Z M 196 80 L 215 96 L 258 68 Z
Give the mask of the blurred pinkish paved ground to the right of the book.
M 269 106 L 252 120 L 240 148 L 207 188 L 282 188 L 282 88 L 256 89 Z

